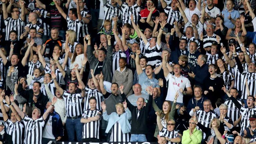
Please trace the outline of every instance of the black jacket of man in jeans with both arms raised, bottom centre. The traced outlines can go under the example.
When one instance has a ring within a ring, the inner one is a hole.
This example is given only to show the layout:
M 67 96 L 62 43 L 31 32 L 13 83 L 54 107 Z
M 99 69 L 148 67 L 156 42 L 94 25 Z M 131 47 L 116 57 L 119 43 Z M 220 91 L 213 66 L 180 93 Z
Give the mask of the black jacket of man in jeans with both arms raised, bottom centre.
M 137 119 L 137 106 L 133 106 L 125 94 L 121 94 L 123 101 L 126 100 L 127 107 L 132 112 L 132 120 L 131 120 L 131 134 L 147 134 L 147 119 L 148 119 L 148 112 L 150 110 L 150 107 L 152 105 L 153 96 L 149 95 L 149 100 L 141 110 L 140 115 Z

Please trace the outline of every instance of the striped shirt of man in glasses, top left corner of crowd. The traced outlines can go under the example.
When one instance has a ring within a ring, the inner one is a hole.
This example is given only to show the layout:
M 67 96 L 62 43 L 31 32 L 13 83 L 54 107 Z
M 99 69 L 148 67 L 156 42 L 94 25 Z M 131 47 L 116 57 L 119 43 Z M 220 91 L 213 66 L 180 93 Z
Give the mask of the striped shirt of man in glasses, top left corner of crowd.
M 5 40 L 10 40 L 10 31 L 16 30 L 18 32 L 18 40 L 20 39 L 20 35 L 23 33 L 24 21 L 21 18 L 13 19 L 8 17 L 4 20 L 5 24 Z

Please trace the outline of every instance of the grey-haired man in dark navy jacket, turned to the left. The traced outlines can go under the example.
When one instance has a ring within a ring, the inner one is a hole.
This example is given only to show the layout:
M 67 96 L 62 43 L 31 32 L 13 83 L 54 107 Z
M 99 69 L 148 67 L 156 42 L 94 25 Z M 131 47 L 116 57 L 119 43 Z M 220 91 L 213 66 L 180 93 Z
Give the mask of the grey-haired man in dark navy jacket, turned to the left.
M 207 65 L 207 56 L 204 54 L 200 54 L 197 58 L 197 65 L 188 75 L 191 78 L 194 78 L 195 85 L 203 87 L 204 80 L 209 77 L 208 73 L 208 65 Z

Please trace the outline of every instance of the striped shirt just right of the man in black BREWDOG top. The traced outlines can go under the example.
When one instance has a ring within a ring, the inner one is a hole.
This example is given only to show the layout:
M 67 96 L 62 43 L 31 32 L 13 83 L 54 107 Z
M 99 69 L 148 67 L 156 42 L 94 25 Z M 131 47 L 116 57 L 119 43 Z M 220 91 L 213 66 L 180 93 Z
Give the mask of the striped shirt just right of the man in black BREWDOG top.
M 67 20 L 67 23 L 68 23 L 68 30 L 71 29 L 71 30 L 74 30 L 76 32 L 76 38 L 77 38 L 77 41 L 78 41 L 80 33 L 82 32 L 81 27 L 84 25 L 83 20 L 81 20 L 81 21 L 79 19 L 71 20 L 68 16 L 67 16 L 66 20 Z

